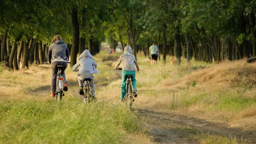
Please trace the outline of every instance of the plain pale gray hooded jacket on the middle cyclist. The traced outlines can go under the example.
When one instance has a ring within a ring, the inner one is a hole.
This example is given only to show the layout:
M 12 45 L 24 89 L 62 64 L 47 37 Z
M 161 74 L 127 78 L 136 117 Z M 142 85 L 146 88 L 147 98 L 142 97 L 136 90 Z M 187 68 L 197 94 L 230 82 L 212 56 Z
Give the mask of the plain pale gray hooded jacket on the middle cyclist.
M 79 61 L 72 67 L 72 70 L 78 71 L 78 75 L 99 74 L 96 68 L 97 64 L 94 62 L 93 56 L 88 50 L 84 50 L 79 56 Z

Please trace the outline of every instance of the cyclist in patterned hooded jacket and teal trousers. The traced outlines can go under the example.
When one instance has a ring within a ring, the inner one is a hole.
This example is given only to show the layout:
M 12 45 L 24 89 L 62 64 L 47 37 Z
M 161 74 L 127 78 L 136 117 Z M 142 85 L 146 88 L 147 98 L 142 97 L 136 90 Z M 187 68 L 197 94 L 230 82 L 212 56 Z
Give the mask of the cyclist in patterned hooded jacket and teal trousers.
M 136 81 L 136 78 L 135 78 L 135 76 L 136 76 L 135 66 L 137 68 L 137 71 L 140 70 L 135 56 L 132 55 L 132 48 L 129 45 L 125 46 L 124 54 L 120 56 L 120 58 L 119 58 L 119 60 L 116 64 L 115 70 L 117 70 L 118 66 L 120 65 L 120 63 L 122 61 L 123 61 L 123 64 L 122 64 L 122 84 L 121 84 L 121 96 L 120 96 L 121 101 L 123 101 L 124 95 L 126 94 L 126 87 L 125 86 L 126 86 L 126 79 L 127 79 L 128 75 L 131 76 L 134 96 L 135 97 L 137 96 L 137 88 L 136 88 L 137 81 Z

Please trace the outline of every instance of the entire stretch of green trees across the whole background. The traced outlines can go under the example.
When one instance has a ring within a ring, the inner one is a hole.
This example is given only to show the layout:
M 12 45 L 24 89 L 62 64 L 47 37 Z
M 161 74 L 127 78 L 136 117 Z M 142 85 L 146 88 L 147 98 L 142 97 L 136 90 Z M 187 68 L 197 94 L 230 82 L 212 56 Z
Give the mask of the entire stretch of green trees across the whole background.
M 256 56 L 254 0 L 4 0 L 0 60 L 14 69 L 46 61 L 52 36 L 70 48 L 71 65 L 100 42 L 129 44 L 134 55 L 157 42 L 168 54 L 218 62 Z

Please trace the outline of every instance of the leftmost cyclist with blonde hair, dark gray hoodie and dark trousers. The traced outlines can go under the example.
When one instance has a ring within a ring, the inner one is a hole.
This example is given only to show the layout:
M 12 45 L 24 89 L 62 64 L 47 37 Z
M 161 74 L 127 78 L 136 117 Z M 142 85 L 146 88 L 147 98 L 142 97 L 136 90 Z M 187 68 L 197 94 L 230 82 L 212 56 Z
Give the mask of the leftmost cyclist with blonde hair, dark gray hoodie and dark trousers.
M 52 83 L 51 83 L 51 97 L 55 97 L 55 91 L 56 91 L 56 76 L 58 72 L 57 66 L 63 66 L 61 67 L 61 76 L 64 78 L 64 87 L 63 90 L 67 91 L 67 81 L 65 76 L 65 70 L 68 66 L 68 58 L 69 58 L 69 52 L 68 52 L 68 46 L 65 42 L 62 41 L 62 37 L 60 35 L 56 35 L 52 38 L 52 44 L 49 47 L 48 51 L 48 62 L 51 64 L 52 67 Z

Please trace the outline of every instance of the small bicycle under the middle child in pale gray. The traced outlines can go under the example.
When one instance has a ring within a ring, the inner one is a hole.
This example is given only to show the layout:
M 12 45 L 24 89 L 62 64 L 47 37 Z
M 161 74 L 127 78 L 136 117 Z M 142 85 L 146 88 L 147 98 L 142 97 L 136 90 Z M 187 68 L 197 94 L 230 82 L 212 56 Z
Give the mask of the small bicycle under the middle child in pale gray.
M 90 100 L 94 100 L 95 98 L 92 96 L 92 91 L 90 89 L 90 78 L 85 78 L 83 79 L 83 84 L 84 84 L 84 103 L 88 104 Z

